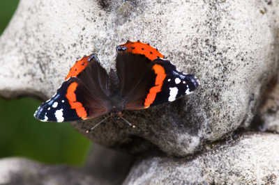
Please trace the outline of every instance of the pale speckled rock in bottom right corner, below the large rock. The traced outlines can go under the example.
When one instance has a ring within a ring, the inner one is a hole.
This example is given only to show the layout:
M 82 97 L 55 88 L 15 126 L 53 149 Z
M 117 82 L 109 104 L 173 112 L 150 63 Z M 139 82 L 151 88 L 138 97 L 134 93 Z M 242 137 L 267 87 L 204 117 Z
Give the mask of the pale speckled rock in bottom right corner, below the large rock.
M 151 156 L 133 166 L 123 185 L 279 184 L 278 142 L 278 134 L 248 133 L 192 159 Z

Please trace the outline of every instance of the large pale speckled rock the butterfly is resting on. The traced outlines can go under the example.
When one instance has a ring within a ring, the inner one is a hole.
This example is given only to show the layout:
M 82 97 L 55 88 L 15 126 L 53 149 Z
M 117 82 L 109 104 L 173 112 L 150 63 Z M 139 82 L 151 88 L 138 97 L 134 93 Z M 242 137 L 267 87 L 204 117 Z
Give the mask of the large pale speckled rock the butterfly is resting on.
M 149 42 L 201 86 L 179 101 L 127 112 L 137 129 L 109 120 L 86 136 L 133 153 L 156 147 L 186 156 L 250 127 L 278 74 L 278 17 L 277 1 L 22 0 L 0 38 L 0 95 L 46 100 L 85 54 L 95 52 L 109 70 L 117 44 Z M 72 125 L 85 134 L 102 119 Z

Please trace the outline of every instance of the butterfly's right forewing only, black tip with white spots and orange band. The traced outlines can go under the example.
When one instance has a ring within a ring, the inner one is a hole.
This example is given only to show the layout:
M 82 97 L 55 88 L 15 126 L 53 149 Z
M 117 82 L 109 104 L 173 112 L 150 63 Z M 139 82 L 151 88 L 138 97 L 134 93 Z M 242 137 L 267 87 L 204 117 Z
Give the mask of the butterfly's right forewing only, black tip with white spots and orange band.
M 190 95 L 198 86 L 199 81 L 194 74 L 183 74 L 171 62 L 156 58 L 147 67 L 133 95 L 125 97 L 125 109 L 135 110 L 173 102 Z

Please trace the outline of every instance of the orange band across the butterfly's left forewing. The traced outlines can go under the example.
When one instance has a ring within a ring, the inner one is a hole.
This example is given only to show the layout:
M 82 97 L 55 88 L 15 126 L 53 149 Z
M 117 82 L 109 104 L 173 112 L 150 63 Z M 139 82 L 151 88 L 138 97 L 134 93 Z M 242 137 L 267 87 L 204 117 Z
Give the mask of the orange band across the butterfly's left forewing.
M 70 108 L 75 109 L 77 115 L 80 118 L 83 118 L 87 116 L 87 113 L 85 111 L 85 108 L 82 107 L 82 103 L 77 102 L 77 97 L 75 96 L 76 89 L 77 89 L 77 83 L 76 82 L 71 83 L 70 86 L 68 87 L 66 97 L 69 100 Z

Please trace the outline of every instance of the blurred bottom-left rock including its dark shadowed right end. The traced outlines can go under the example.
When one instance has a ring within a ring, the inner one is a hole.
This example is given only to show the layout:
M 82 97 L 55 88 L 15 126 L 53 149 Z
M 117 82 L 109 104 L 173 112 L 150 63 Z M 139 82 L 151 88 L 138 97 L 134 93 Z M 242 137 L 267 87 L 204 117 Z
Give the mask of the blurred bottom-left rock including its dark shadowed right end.
M 118 185 L 126 178 L 133 161 L 128 154 L 99 145 L 93 146 L 84 168 L 6 158 L 0 160 L 0 184 Z

